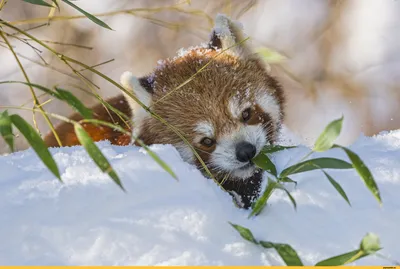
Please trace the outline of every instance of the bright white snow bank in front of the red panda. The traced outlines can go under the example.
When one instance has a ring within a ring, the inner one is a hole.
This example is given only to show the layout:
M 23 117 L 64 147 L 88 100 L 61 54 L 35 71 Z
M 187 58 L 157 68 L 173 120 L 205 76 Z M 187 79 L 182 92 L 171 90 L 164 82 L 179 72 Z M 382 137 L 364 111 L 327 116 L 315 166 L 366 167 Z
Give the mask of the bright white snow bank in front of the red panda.
M 284 139 L 288 137 L 286 133 Z M 138 147 L 98 145 L 126 193 L 79 146 L 51 149 L 63 184 L 31 149 L 0 157 L 0 264 L 283 265 L 274 250 L 243 240 L 228 221 L 251 229 L 259 240 L 290 244 L 306 265 L 358 248 L 367 232 L 380 237 L 381 254 L 400 257 L 400 130 L 361 136 L 350 147 L 372 171 L 382 207 L 355 171 L 329 171 L 352 207 L 315 171 L 293 176 L 297 187 L 287 184 L 297 211 L 277 191 L 263 213 L 252 219 L 170 145 L 151 149 L 172 167 L 179 182 Z M 278 170 L 308 150 L 277 153 Z M 338 150 L 316 156 L 346 159 Z M 388 263 L 373 256 L 355 264 Z

